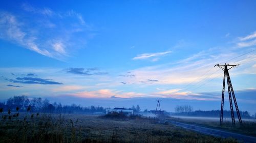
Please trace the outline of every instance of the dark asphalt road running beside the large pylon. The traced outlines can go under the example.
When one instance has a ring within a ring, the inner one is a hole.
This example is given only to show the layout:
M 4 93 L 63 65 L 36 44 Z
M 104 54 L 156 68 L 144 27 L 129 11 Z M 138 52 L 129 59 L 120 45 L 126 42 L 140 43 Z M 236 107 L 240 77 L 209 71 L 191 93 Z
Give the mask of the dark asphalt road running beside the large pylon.
M 180 123 L 180 122 L 175 122 L 170 120 L 168 120 L 168 122 L 176 126 L 179 126 L 188 130 L 193 130 L 206 135 L 212 135 L 212 136 L 223 137 L 223 138 L 232 137 L 244 142 L 256 142 L 256 137 L 253 137 L 253 136 L 247 136 L 247 135 L 223 131 L 219 129 L 212 129 L 207 127 L 202 127 L 199 125 Z

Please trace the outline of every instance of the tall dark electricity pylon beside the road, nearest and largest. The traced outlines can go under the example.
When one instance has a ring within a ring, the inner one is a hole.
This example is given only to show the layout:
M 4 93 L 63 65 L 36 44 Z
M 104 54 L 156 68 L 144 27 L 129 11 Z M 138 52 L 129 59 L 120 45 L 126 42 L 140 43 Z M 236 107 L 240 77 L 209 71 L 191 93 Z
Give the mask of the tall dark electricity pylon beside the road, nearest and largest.
M 229 97 L 232 125 L 236 126 L 236 121 L 234 121 L 234 111 L 233 111 L 232 97 L 233 97 L 233 100 L 234 100 L 234 106 L 236 106 L 239 123 L 240 123 L 240 125 L 242 125 L 243 123 L 242 123 L 242 119 L 241 119 L 240 112 L 239 112 L 239 109 L 238 109 L 237 100 L 236 100 L 236 97 L 234 96 L 234 90 L 233 90 L 231 80 L 230 80 L 230 76 L 229 76 L 229 73 L 228 73 L 229 69 L 231 69 L 233 67 L 236 67 L 236 66 L 239 66 L 239 65 L 229 65 L 229 64 L 220 65 L 220 64 L 218 64 L 218 65 L 215 65 L 215 66 L 218 66 L 220 69 L 222 69 L 224 71 L 223 87 L 222 87 L 222 98 L 221 98 L 220 125 L 222 125 L 222 123 L 223 123 L 223 107 L 224 107 L 224 93 L 225 93 L 225 78 L 226 78 L 226 75 L 227 75 L 227 87 L 228 87 L 228 97 Z M 231 67 L 227 68 L 228 66 L 231 66 Z M 231 97 L 231 93 L 232 93 L 232 97 Z

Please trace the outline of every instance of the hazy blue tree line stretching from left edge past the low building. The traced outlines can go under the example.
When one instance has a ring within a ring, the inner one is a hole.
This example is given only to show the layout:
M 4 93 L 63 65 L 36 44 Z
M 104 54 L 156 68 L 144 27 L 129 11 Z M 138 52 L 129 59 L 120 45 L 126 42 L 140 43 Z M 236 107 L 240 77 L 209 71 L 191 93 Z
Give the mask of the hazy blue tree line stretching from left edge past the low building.
M 81 106 L 76 104 L 62 105 L 60 102 L 50 103 L 48 99 L 28 98 L 27 96 L 13 96 L 7 99 L 6 102 L 0 102 L 0 108 L 7 111 L 9 109 L 16 110 L 16 107 L 20 108 L 20 111 L 26 111 L 28 107 L 33 112 L 48 112 L 48 113 L 105 113 L 108 108 L 102 106 Z M 140 111 L 140 106 L 133 105 L 131 108 L 134 112 Z

